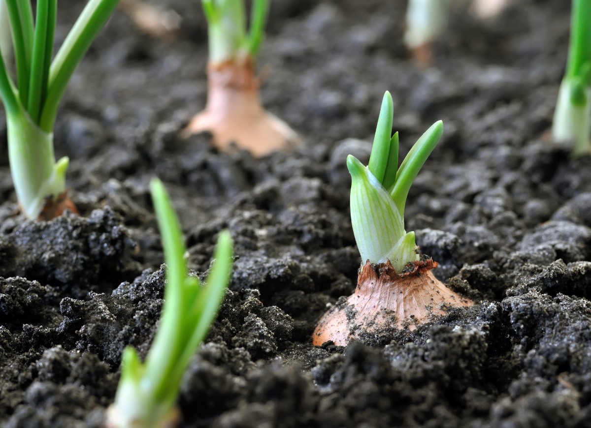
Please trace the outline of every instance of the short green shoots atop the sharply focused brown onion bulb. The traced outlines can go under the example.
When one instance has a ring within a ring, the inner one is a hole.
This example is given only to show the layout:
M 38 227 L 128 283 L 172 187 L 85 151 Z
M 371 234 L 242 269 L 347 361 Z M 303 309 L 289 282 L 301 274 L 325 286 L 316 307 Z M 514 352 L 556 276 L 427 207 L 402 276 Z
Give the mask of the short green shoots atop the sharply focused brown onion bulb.
M 351 221 L 362 264 L 385 263 L 397 272 L 419 259 L 414 232 L 404 230 L 404 207 L 418 171 L 443 133 L 443 122 L 434 123 L 411 148 L 398 167 L 398 133 L 391 136 L 394 107 L 384 94 L 369 165 L 349 155 L 352 177 Z

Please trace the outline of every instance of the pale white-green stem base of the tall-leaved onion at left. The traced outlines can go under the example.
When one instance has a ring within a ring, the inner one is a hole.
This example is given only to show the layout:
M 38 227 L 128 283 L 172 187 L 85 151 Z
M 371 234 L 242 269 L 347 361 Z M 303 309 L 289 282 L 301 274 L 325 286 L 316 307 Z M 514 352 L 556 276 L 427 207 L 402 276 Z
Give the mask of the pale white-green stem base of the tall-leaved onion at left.
M 47 197 L 66 190 L 67 157 L 55 161 L 53 133 L 44 132 L 25 112 L 7 113 L 8 158 L 22 212 L 37 218 Z

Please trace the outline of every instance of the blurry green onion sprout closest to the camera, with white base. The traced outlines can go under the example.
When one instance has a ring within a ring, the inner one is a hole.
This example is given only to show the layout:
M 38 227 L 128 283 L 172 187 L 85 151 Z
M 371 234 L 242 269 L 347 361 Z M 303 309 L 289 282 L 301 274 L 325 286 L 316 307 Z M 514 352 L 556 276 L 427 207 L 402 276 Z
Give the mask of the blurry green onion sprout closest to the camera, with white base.
M 109 427 L 176 424 L 175 403 L 183 373 L 215 319 L 232 265 L 232 239 L 228 231 L 223 231 L 217 240 L 215 263 L 206 285 L 200 285 L 197 277 L 188 276 L 177 215 L 162 182 L 153 179 L 150 187 L 167 266 L 164 305 L 145 362 L 139 361 L 132 347 L 123 352 L 115 403 L 107 412 Z

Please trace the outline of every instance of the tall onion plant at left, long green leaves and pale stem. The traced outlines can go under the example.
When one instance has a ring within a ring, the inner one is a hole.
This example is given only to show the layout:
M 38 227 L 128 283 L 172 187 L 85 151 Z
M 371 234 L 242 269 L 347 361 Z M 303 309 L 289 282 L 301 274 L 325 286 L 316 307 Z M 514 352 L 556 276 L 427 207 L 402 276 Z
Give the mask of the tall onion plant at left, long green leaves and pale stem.
M 16 83 L 0 58 L 0 96 L 8 128 L 12 181 L 22 212 L 36 218 L 65 191 L 68 158 L 56 162 L 53 126 L 74 70 L 119 0 L 89 0 L 53 61 L 57 0 L 5 0 L 14 45 Z

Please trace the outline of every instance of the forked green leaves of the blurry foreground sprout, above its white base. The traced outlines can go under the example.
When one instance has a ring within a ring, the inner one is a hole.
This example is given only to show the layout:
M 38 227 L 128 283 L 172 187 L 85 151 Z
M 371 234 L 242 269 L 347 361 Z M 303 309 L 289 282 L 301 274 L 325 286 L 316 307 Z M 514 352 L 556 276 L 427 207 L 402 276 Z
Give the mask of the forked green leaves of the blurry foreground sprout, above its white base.
M 150 188 L 168 269 L 160 327 L 146 373 L 154 385 L 155 400 L 174 403 L 182 374 L 207 334 L 228 285 L 232 241 L 228 233 L 220 234 L 216 263 L 207 279 L 213 278 L 214 283 L 201 287 L 197 278 L 187 276 L 183 234 L 164 184 L 152 179 Z

